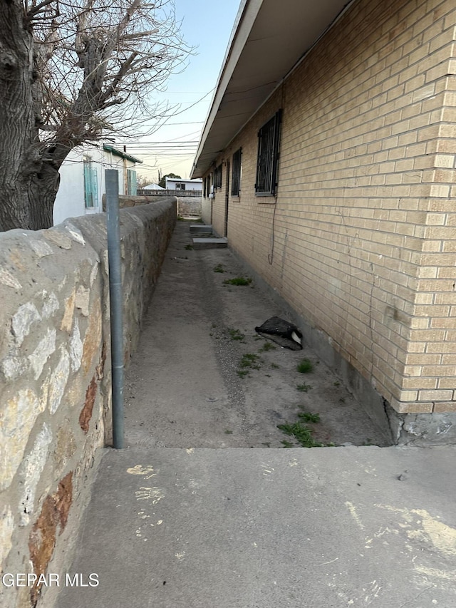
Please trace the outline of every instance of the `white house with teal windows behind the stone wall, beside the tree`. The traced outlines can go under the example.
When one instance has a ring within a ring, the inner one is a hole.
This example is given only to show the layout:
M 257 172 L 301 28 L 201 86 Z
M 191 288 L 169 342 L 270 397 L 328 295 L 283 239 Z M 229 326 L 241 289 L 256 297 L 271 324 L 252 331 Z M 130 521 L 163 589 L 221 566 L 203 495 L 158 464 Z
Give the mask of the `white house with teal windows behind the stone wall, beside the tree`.
M 67 217 L 76 217 L 102 210 L 105 193 L 105 169 L 117 169 L 119 194 L 136 194 L 136 165 L 142 160 L 107 143 L 82 145 L 71 150 L 59 173 L 61 175 L 54 225 Z

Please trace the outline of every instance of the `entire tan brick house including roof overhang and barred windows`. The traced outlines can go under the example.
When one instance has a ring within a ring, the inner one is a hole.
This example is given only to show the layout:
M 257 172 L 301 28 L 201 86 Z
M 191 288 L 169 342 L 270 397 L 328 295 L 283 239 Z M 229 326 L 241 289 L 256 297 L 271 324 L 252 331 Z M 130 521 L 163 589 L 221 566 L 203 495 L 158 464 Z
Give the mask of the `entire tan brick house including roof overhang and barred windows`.
M 455 24 L 455 0 L 242 1 L 192 170 L 203 219 L 371 415 L 448 441 Z

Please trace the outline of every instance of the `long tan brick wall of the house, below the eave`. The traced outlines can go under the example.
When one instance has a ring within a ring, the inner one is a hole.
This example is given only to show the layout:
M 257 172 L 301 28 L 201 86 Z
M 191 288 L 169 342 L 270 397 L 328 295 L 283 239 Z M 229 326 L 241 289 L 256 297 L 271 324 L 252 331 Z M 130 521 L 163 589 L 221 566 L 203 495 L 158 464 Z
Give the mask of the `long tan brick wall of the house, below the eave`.
M 400 413 L 456 411 L 455 24 L 452 0 L 358 1 L 217 159 L 242 146 L 229 244 Z

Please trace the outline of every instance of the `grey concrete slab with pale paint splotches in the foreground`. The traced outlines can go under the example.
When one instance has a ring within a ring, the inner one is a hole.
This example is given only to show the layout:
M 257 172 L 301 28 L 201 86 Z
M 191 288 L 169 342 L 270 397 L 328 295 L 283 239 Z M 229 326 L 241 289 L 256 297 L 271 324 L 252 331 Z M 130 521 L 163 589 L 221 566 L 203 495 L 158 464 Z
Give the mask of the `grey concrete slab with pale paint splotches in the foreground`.
M 455 456 L 106 450 L 58 608 L 454 608 Z

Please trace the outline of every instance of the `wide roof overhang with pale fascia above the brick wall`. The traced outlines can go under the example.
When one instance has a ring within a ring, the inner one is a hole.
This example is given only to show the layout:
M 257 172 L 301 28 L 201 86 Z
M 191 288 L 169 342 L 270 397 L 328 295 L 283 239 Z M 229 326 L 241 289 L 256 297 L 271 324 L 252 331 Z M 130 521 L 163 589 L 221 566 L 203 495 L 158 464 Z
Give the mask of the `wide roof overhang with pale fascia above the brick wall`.
M 199 142 L 192 177 L 217 155 L 353 0 L 244 0 Z

